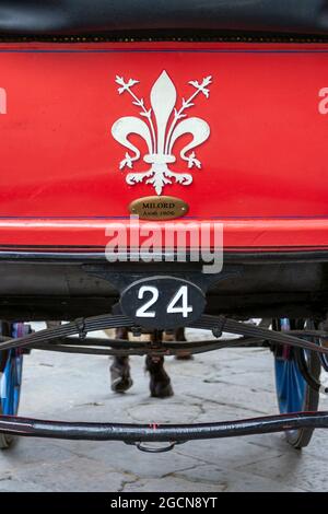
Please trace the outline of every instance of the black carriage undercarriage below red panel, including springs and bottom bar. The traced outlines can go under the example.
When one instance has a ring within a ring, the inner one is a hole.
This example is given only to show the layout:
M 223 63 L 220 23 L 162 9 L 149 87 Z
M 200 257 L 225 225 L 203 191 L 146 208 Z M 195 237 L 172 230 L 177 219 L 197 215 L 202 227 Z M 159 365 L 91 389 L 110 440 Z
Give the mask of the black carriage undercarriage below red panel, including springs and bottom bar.
M 295 362 L 306 390 L 314 395 L 313 400 L 306 404 L 309 408 L 300 409 L 303 411 L 286 410 L 280 416 L 200 424 L 71 423 L 7 414 L 0 416 L 2 436 L 122 441 L 141 451 L 163 452 L 189 440 L 270 432 L 303 434 L 292 442 L 295 447 L 302 447 L 308 444 L 315 428 L 328 428 L 328 412 L 317 411 L 318 394 L 326 393 L 319 381 L 320 365 L 328 370 L 326 253 L 267 253 L 265 257 L 254 253 L 229 253 L 223 270 L 207 277 L 201 273 L 198 262 L 190 261 L 109 265 L 101 254 L 89 255 L 89 258 L 82 254 L 45 256 L 24 253 L 15 253 L 15 259 L 10 254 L 1 257 L 2 319 L 9 323 L 33 319 L 69 322 L 15 338 L 2 332 L 1 372 L 11 352 L 23 354 L 33 349 L 116 357 L 167 357 L 223 348 L 266 347 L 272 351 L 276 361 Z M 127 315 L 125 309 L 129 309 L 131 296 L 128 296 L 126 306 L 121 300 L 133 284 L 162 283 L 162 295 L 165 296 L 165 288 L 169 289 L 169 284 L 175 282 L 199 290 L 200 301 L 201 294 L 206 297 L 203 313 L 199 307 L 199 315 L 196 309 L 196 317 L 191 320 L 181 318 L 176 328 L 211 330 L 212 339 L 163 342 L 161 332 L 166 329 L 174 331 L 175 328 L 174 324 L 166 322 L 165 315 L 156 317 L 153 325 L 150 320 L 141 319 L 139 323 L 136 317 Z M 249 324 L 249 317 L 258 317 L 262 322 Z M 283 327 L 281 318 L 294 322 Z M 153 337 L 149 342 L 92 337 L 94 330 L 120 327 L 137 336 L 152 331 Z M 224 337 L 226 332 L 234 337 Z M 90 334 L 91 337 L 86 337 Z M 148 445 L 153 442 L 165 444 Z

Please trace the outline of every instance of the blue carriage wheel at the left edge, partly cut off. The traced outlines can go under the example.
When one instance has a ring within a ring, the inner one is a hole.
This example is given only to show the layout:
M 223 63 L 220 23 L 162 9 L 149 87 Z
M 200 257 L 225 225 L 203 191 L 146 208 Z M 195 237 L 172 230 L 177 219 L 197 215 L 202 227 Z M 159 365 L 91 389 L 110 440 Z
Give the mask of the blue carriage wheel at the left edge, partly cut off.
M 28 325 L 23 323 L 1 323 L 1 334 L 4 336 L 21 337 L 28 334 Z M 2 371 L 0 381 L 0 413 L 4 416 L 16 416 L 19 411 L 23 354 L 19 349 L 0 352 L 0 366 Z M 0 449 L 8 448 L 16 437 L 0 434 Z

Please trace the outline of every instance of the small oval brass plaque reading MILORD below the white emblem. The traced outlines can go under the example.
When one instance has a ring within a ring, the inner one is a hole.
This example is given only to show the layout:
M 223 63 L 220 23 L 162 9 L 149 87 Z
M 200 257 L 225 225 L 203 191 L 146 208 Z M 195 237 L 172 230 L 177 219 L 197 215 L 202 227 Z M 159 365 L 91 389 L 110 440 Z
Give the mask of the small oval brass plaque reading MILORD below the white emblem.
M 187 214 L 188 203 L 180 198 L 167 196 L 142 197 L 131 201 L 129 211 L 140 220 L 174 220 Z

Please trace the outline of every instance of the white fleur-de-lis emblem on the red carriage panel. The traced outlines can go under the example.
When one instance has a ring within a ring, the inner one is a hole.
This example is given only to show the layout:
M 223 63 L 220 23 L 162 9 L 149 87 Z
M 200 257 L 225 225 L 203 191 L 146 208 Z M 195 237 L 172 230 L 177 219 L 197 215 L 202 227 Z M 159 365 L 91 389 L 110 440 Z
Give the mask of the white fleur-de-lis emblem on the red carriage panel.
M 118 93 L 129 93 L 132 97 L 132 104 L 137 105 L 140 116 L 126 116 L 119 118 L 112 127 L 112 135 L 120 144 L 126 147 L 125 159 L 120 162 L 119 168 L 133 168 L 134 161 L 141 156 L 139 149 L 132 144 L 128 137 L 137 133 L 144 139 L 149 153 L 143 155 L 143 161 L 151 165 L 145 172 L 128 173 L 127 183 L 132 186 L 145 179 L 145 184 L 154 187 L 157 195 L 161 195 L 166 184 L 172 184 L 172 179 L 184 186 L 188 186 L 192 182 L 190 173 L 176 173 L 168 168 L 168 164 L 176 161 L 173 149 L 177 139 L 185 135 L 191 133 L 192 140 L 186 144 L 180 151 L 180 157 L 187 162 L 188 168 L 194 166 L 200 168 L 201 162 L 196 157 L 194 149 L 203 143 L 210 136 L 209 125 L 201 118 L 188 118 L 186 109 L 194 106 L 196 96 L 202 93 L 207 98 L 210 91 L 208 86 L 212 82 L 212 77 L 206 77 L 202 82 L 196 80 L 188 83 L 196 91 L 189 98 L 181 101 L 181 106 L 176 107 L 176 89 L 166 71 L 163 71 L 150 94 L 151 107 L 147 107 L 144 100 L 139 98 L 132 91 L 132 87 L 139 83 L 138 80 L 125 80 L 122 77 L 116 77 L 116 83 L 119 85 Z

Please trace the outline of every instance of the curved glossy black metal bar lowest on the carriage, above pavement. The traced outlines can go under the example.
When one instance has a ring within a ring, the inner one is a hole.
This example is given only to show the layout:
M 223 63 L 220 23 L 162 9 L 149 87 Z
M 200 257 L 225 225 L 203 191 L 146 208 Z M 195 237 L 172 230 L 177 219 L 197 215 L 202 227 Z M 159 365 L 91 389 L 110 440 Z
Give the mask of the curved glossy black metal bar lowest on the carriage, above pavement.
M 286 432 L 297 429 L 328 429 L 328 411 L 293 412 L 280 416 L 195 424 L 129 424 L 48 421 L 0 416 L 0 433 L 20 436 L 83 441 L 121 441 L 147 452 L 172 449 L 191 440 Z M 149 447 L 143 443 L 168 443 Z

